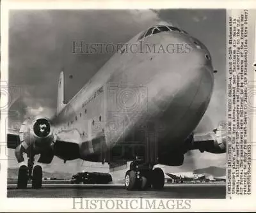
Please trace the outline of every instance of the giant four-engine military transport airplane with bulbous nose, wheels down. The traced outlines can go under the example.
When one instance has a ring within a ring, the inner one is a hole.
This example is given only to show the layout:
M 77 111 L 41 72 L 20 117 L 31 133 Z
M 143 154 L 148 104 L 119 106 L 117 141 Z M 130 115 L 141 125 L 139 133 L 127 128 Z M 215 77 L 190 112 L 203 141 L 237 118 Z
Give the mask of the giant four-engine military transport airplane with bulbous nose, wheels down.
M 154 165 L 180 166 L 192 149 L 225 152 L 220 128 L 193 133 L 209 105 L 215 72 L 200 41 L 164 25 L 134 36 L 67 104 L 61 72 L 56 115 L 26 119 L 19 133 L 7 136 L 19 163 L 28 156 L 18 188 L 26 188 L 28 179 L 33 188 L 42 187 L 37 154 L 39 163 L 58 156 L 64 163 L 83 159 L 110 169 L 132 161 L 125 174 L 125 188 L 132 190 L 162 189 L 164 173 Z

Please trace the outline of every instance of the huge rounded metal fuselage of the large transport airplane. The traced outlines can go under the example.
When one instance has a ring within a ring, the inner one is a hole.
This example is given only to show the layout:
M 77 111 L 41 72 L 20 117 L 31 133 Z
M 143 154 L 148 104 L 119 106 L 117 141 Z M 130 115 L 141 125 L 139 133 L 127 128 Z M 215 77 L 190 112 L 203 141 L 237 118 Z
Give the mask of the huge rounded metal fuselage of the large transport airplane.
M 106 153 L 115 149 L 116 158 L 132 158 L 131 149 L 142 149 L 148 161 L 172 165 L 170 155 L 183 154 L 209 105 L 213 70 L 200 41 L 179 31 L 139 36 L 127 43 L 132 52 L 116 52 L 51 121 L 60 140 L 79 145 L 81 159 L 110 161 Z

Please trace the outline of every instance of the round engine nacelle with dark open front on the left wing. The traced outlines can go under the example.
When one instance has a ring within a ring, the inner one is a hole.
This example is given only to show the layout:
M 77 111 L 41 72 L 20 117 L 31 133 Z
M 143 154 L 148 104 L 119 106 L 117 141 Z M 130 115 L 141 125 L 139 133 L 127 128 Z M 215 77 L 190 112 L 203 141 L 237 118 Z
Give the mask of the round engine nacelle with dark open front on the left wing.
M 26 119 L 20 126 L 19 136 L 22 147 L 26 150 L 33 145 L 35 152 L 49 149 L 54 141 L 51 124 L 45 117 Z

